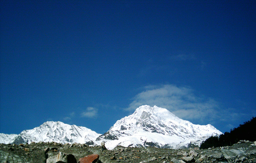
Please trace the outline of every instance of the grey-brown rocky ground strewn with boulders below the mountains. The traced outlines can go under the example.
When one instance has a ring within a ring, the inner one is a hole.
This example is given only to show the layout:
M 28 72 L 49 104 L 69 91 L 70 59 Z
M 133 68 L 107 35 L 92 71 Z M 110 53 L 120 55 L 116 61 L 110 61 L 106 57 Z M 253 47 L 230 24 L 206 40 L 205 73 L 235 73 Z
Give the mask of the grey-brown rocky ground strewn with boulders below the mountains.
M 97 158 L 87 162 L 86 156 Z M 56 163 L 57 157 L 66 159 L 61 160 L 62 163 L 256 163 L 256 141 L 239 141 L 232 146 L 204 150 L 123 146 L 107 150 L 104 143 L 103 146 L 88 146 L 42 141 L 19 145 L 0 144 L 0 163 Z

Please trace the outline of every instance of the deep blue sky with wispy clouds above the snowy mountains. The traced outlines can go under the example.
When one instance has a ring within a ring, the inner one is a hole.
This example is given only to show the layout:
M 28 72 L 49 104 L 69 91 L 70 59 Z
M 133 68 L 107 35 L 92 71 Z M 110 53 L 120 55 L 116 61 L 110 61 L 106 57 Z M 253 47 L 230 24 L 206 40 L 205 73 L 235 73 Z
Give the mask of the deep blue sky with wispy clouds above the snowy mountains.
M 0 1 L 0 133 L 104 133 L 140 105 L 230 131 L 256 116 L 256 1 Z

